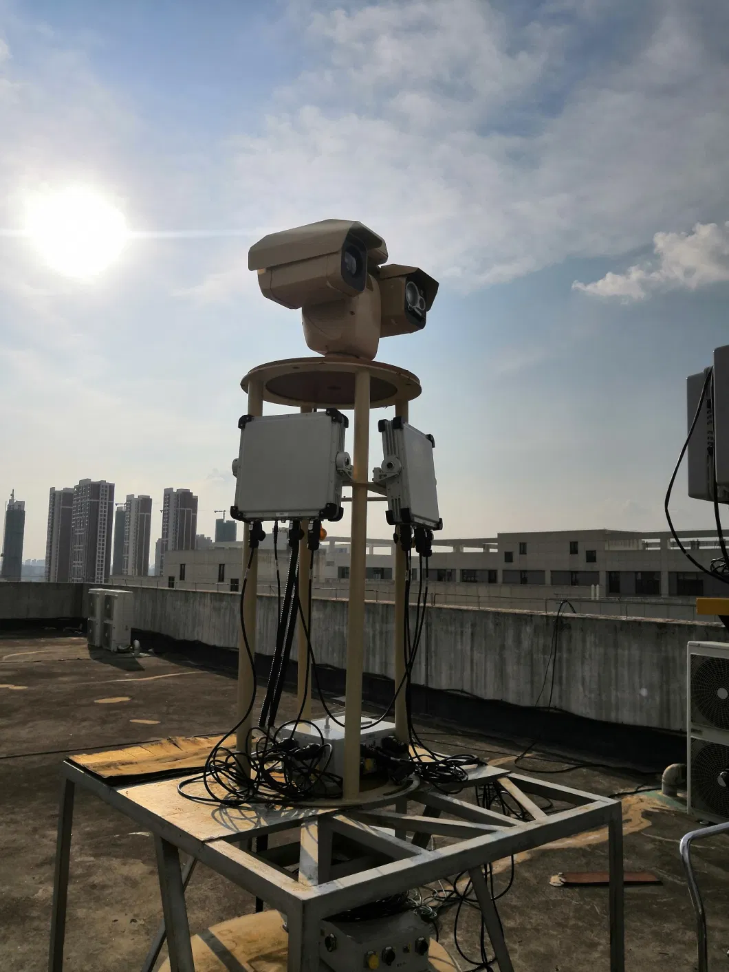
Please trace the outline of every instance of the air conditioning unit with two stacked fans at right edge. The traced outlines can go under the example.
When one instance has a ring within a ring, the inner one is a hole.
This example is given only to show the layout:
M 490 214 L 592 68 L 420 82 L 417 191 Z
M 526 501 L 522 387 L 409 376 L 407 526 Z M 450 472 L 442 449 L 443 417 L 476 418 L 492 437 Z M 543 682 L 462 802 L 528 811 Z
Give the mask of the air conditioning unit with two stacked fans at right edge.
M 729 819 L 729 644 L 688 642 L 688 811 Z

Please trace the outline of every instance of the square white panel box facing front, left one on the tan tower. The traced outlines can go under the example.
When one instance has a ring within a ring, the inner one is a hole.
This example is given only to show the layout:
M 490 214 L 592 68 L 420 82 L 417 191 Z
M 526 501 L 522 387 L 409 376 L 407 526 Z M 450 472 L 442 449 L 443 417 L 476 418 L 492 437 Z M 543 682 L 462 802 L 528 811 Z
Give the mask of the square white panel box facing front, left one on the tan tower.
M 341 518 L 342 480 L 352 468 L 341 412 L 244 415 L 238 425 L 232 516 L 249 522 Z

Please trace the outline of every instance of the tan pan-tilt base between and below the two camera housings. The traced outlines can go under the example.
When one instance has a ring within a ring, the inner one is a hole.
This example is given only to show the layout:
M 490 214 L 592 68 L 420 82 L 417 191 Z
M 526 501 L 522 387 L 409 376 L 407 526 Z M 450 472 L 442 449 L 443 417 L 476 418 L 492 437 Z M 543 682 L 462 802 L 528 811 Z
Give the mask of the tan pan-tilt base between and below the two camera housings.
M 380 341 L 381 303 L 377 281 L 367 276 L 362 294 L 307 305 L 301 311 L 304 338 L 320 355 L 353 355 L 371 361 Z

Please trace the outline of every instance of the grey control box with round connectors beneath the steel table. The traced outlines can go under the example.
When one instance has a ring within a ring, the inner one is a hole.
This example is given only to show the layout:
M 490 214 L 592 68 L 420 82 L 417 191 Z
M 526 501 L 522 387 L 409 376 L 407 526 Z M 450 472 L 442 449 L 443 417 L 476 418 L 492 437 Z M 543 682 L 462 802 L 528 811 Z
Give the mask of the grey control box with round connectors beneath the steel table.
M 322 921 L 319 957 L 334 972 L 401 969 L 427 972 L 431 933 L 412 911 L 383 919 Z

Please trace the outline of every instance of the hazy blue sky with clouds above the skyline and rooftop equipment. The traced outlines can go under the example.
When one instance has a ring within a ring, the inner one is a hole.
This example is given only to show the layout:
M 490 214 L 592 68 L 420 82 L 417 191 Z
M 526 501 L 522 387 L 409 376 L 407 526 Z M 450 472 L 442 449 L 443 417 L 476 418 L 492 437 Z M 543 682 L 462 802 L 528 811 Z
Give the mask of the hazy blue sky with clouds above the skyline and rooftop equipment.
M 665 529 L 685 378 L 729 343 L 727 103 L 715 0 L 0 0 L 0 497 L 25 501 L 24 557 L 49 488 L 87 476 L 154 498 L 153 547 L 168 486 L 213 532 L 241 377 L 310 353 L 248 248 L 331 217 L 440 282 L 377 359 L 421 379 L 444 537 Z M 87 280 L 18 233 L 67 187 L 138 234 Z M 674 504 L 711 525 L 683 474 Z

